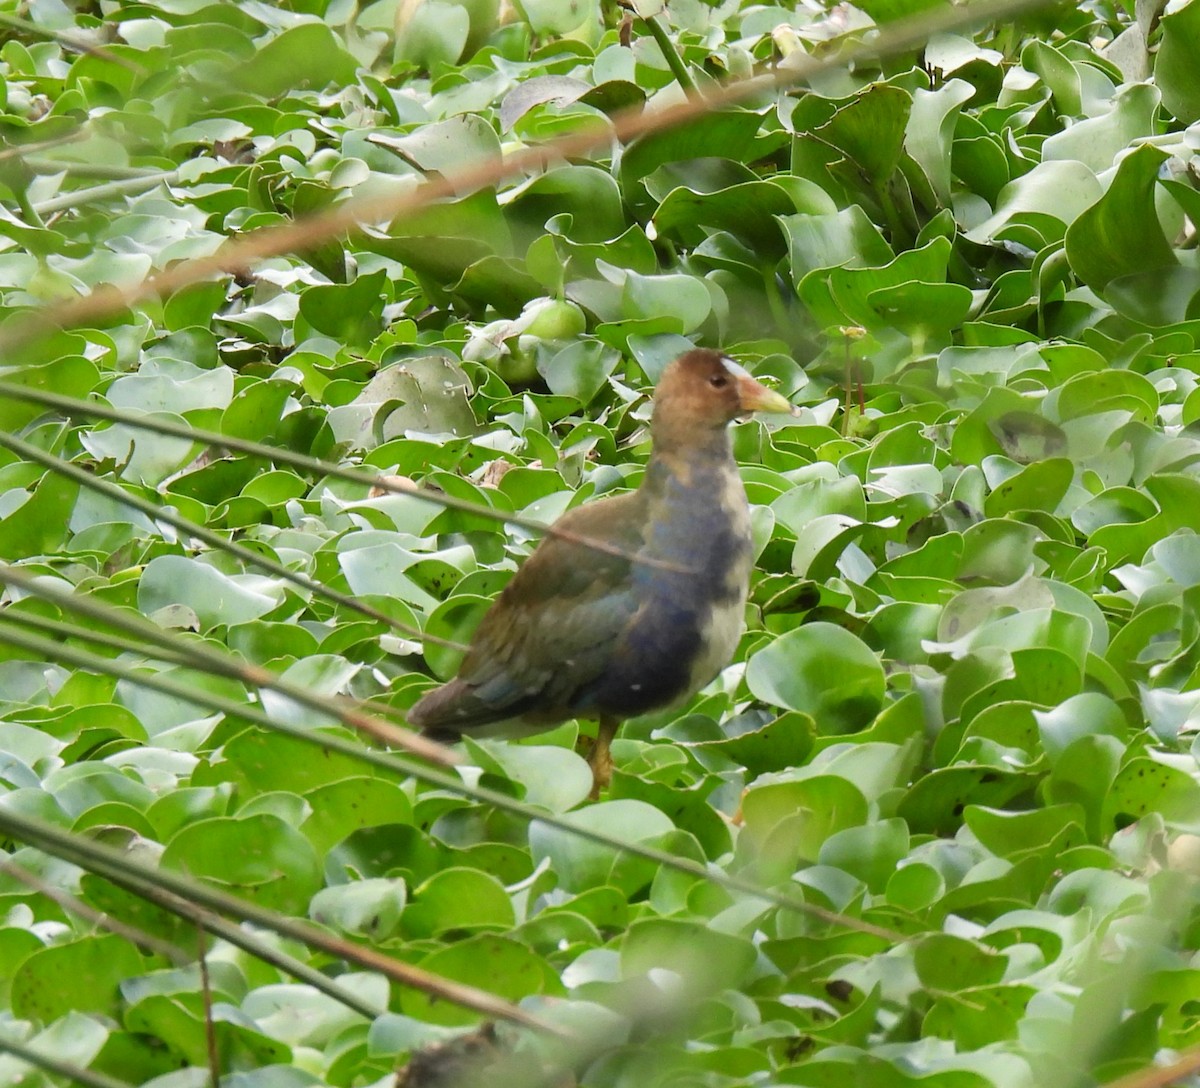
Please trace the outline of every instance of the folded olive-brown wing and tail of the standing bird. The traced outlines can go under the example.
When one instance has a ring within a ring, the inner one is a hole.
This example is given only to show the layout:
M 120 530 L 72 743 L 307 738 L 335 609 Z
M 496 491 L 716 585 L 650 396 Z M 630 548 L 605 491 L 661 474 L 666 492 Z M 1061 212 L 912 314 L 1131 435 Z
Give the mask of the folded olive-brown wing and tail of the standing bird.
M 626 557 L 643 543 L 643 501 L 634 492 L 564 515 L 557 528 L 623 554 L 542 540 L 484 617 L 458 678 L 426 696 L 410 721 L 454 731 L 517 716 L 570 717 L 571 696 L 604 672 L 637 611 Z

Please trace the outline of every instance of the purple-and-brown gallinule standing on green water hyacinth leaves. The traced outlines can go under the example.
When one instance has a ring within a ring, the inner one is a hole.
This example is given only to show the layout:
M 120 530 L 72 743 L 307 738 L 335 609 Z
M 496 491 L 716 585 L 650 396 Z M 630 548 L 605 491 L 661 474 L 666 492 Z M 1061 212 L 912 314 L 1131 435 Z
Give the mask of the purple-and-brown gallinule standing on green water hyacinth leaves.
M 668 363 L 640 486 L 554 523 L 480 620 L 458 674 L 412 707 L 409 726 L 452 741 L 497 723 L 532 735 L 595 719 L 599 798 L 620 723 L 686 702 L 737 649 L 754 557 L 728 425 L 755 411 L 796 414 L 720 351 Z

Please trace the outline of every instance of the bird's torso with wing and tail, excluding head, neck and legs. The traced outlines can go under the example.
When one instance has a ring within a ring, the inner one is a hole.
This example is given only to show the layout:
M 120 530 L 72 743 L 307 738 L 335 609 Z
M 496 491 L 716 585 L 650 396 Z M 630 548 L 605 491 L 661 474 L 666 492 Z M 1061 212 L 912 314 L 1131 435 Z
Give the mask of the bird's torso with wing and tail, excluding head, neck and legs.
M 511 719 L 630 717 L 685 699 L 726 663 L 750 566 L 732 463 L 690 465 L 683 479 L 652 462 L 637 492 L 581 506 L 557 528 L 630 558 L 544 540 L 484 618 L 457 679 L 416 703 L 412 725 L 452 735 Z

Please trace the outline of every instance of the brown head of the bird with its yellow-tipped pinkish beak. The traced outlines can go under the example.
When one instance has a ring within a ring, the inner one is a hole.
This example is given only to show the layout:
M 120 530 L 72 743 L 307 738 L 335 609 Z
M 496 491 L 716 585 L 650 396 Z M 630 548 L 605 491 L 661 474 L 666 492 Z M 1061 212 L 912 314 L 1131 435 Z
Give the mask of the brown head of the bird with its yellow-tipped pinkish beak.
M 703 441 L 702 434 L 752 411 L 792 413 L 792 405 L 766 385 L 755 381 L 727 355 L 709 348 L 685 351 L 662 372 L 654 391 L 652 431 L 656 445 L 664 441 Z

